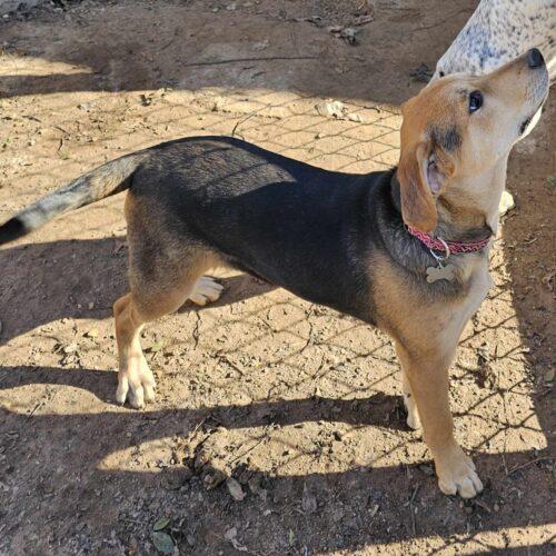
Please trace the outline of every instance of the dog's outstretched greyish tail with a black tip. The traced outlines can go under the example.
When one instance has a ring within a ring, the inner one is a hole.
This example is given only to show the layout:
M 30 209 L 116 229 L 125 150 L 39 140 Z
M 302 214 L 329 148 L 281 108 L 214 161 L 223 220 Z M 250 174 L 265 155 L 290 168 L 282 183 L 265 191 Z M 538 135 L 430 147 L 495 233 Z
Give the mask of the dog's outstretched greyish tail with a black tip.
M 135 152 L 107 162 L 34 201 L 0 226 L 0 245 L 40 228 L 58 215 L 125 191 L 142 158 L 142 152 Z

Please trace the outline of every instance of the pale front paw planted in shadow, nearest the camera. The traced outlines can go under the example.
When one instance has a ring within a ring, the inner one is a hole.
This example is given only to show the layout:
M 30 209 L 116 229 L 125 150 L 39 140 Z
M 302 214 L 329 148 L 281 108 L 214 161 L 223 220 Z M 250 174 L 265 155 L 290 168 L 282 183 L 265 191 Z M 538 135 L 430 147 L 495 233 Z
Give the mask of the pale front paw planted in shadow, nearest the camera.
M 458 445 L 435 457 L 435 465 L 438 486 L 444 494 L 473 498 L 483 490 L 475 464 Z

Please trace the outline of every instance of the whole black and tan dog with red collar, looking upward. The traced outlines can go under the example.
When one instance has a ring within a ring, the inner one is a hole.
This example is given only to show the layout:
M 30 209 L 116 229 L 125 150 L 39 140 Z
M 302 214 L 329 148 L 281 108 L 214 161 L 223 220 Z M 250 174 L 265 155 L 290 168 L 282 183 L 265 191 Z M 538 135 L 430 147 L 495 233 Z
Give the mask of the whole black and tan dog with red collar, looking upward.
M 423 424 L 440 489 L 471 497 L 483 486 L 454 439 L 448 367 L 490 287 L 488 239 L 509 151 L 547 91 L 535 49 L 487 76 L 440 79 L 403 107 L 398 168 L 369 175 L 325 171 L 231 138 L 166 142 L 38 200 L 0 227 L 0 244 L 129 189 L 130 292 L 113 306 L 119 403 L 141 407 L 155 395 L 142 326 L 188 298 L 216 299 L 221 287 L 203 274 L 231 266 L 388 332 L 408 424 Z M 475 248 L 450 256 L 450 244 Z

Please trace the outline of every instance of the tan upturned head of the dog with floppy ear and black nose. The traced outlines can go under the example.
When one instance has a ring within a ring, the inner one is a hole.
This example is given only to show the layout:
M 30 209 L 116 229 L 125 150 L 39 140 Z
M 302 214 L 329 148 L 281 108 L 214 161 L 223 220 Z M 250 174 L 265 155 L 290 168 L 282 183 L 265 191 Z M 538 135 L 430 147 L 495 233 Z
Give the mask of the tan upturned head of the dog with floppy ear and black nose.
M 532 49 L 486 76 L 439 79 L 408 100 L 397 170 L 404 221 L 433 231 L 450 181 L 473 183 L 505 160 L 547 93 L 545 61 Z

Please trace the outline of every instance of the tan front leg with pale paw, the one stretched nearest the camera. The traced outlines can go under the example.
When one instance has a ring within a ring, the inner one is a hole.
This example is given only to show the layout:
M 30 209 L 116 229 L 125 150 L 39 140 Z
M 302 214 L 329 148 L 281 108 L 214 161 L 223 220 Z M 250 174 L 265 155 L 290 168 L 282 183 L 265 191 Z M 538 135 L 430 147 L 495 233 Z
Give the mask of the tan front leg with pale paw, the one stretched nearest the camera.
M 449 354 L 431 350 L 410 354 L 399 342 L 396 351 L 417 404 L 423 424 L 423 438 L 436 466 L 438 486 L 445 494 L 459 493 L 471 498 L 483 490 L 471 459 L 454 439 L 454 425 L 448 398 L 448 367 L 455 348 Z

